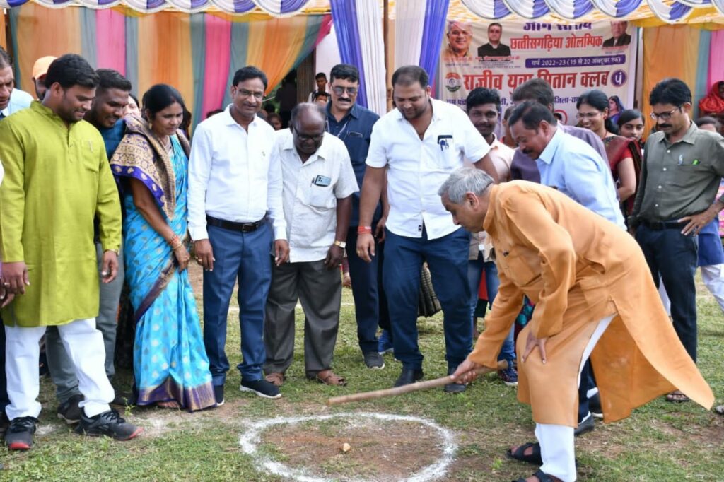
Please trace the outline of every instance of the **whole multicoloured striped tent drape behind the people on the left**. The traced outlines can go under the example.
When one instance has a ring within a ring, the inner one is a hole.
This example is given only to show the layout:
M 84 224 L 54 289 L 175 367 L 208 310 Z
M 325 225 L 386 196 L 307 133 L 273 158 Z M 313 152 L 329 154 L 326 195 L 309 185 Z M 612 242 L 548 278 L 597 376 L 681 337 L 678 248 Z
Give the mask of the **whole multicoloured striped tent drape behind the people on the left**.
M 206 112 L 223 106 L 230 78 L 245 64 L 264 70 L 269 90 L 274 88 L 310 54 L 321 33 L 329 33 L 331 17 L 298 15 L 237 23 L 212 14 L 125 16 L 107 9 L 25 4 L 10 10 L 10 20 L 16 79 L 23 90 L 33 91 L 30 72 L 35 59 L 72 52 L 94 67 L 122 72 L 133 83 L 134 93 L 142 94 L 155 83 L 174 85 L 197 123 Z M 38 32 L 43 33 L 42 42 L 37 41 Z

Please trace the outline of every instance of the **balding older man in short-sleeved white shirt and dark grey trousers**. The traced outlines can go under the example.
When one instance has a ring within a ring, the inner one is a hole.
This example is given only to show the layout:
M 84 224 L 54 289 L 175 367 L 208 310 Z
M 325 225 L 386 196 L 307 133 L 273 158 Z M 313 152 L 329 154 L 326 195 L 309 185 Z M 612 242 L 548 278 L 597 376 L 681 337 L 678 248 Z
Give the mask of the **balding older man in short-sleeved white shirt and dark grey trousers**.
M 266 380 L 280 386 L 294 358 L 299 300 L 306 318 L 304 368 L 308 379 L 347 382 L 332 372 L 342 302 L 340 263 L 357 179 L 345 143 L 324 132 L 327 113 L 314 103 L 292 109 L 290 129 L 277 132 L 272 162 L 284 172 L 289 263 L 274 267 L 266 303 Z

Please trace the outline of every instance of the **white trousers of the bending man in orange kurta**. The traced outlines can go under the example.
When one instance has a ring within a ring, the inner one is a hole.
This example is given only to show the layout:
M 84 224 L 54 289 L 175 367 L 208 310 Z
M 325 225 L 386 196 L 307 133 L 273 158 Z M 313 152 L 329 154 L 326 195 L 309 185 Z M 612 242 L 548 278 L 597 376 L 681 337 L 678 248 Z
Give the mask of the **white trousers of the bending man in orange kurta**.
M 591 335 L 583 356 L 581 365 L 578 366 L 578 383 L 571 386 L 571 390 L 581 384 L 581 370 L 591 352 L 601 338 L 601 335 L 608 328 L 615 315 L 607 316 L 598 322 L 595 331 Z M 541 457 L 543 473 L 560 478 L 563 482 L 576 480 L 576 451 L 573 447 L 573 427 L 555 425 L 552 423 L 536 423 L 536 439 L 541 445 Z

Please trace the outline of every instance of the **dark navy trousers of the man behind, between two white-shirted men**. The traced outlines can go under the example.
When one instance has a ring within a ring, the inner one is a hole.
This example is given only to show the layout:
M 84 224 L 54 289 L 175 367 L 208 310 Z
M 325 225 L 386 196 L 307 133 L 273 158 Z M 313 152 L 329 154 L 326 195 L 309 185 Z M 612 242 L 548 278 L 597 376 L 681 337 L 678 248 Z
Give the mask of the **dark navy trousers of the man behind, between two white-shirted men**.
M 376 227 L 372 227 L 372 232 Z M 382 260 L 384 242 L 375 245 L 371 263 L 357 255 L 357 227 L 350 227 L 347 234 L 347 259 L 350 263 L 352 296 L 355 299 L 357 339 L 363 353 L 377 351 L 377 326 L 389 328 L 387 299 L 382 290 Z

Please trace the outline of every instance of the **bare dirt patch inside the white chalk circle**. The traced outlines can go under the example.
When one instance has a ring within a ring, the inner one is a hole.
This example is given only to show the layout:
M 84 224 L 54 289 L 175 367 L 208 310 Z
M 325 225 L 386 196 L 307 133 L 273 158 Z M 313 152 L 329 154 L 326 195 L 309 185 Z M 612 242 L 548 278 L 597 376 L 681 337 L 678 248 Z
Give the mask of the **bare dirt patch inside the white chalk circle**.
M 272 426 L 261 434 L 261 442 L 287 467 L 342 481 L 400 481 L 441 460 L 445 452 L 434 428 L 371 418 Z M 348 452 L 344 444 L 349 444 Z

